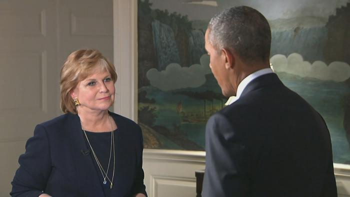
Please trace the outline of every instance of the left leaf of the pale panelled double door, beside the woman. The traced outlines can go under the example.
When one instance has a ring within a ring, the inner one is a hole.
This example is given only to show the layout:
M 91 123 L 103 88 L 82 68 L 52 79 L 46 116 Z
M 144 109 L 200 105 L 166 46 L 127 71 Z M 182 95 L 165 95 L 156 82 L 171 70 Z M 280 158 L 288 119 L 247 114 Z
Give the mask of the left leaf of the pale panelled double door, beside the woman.
M 35 124 L 56 113 L 55 37 L 54 1 L 0 1 L 0 196 Z

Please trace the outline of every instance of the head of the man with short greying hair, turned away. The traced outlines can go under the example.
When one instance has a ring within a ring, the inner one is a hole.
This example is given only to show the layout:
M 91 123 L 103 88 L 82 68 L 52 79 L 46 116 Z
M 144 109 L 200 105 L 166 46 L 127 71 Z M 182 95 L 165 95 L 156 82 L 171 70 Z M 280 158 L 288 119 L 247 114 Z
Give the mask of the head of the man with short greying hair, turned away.
M 231 7 L 211 18 L 205 32 L 205 49 L 223 95 L 235 95 L 244 77 L 268 67 L 270 44 L 269 24 L 256 9 Z

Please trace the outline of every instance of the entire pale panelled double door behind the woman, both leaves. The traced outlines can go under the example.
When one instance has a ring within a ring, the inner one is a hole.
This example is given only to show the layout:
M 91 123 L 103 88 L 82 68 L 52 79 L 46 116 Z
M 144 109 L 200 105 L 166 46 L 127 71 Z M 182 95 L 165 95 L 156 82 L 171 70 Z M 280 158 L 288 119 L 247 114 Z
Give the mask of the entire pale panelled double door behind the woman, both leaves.
M 0 197 L 37 123 L 61 114 L 59 70 L 78 48 L 113 54 L 112 0 L 0 0 Z

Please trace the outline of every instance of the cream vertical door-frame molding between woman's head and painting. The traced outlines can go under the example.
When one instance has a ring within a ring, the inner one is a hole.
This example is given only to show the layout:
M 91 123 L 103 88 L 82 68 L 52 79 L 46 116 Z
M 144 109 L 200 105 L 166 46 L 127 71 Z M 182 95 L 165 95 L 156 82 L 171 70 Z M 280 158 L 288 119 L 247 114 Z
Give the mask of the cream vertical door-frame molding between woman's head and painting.
M 137 121 L 137 0 L 113 0 L 114 112 Z

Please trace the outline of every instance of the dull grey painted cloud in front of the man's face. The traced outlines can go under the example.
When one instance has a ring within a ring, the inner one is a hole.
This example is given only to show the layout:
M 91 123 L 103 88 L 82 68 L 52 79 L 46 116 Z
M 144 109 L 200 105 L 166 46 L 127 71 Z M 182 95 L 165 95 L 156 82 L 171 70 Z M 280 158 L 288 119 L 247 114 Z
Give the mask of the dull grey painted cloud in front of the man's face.
M 200 64 L 181 67 L 178 63 L 170 63 L 165 70 L 149 69 L 146 76 L 152 86 L 167 91 L 186 87 L 199 87 L 205 83 L 205 74 L 208 73 L 211 73 L 209 56 L 203 54 L 200 57 Z

